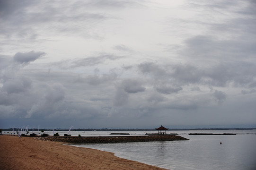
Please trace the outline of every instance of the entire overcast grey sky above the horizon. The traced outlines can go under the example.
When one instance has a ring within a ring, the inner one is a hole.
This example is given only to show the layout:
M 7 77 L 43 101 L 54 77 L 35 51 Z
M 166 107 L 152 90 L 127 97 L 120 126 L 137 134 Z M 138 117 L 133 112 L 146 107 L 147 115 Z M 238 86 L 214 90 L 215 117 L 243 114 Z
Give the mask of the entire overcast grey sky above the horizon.
M 256 127 L 256 0 L 0 0 L 0 128 Z

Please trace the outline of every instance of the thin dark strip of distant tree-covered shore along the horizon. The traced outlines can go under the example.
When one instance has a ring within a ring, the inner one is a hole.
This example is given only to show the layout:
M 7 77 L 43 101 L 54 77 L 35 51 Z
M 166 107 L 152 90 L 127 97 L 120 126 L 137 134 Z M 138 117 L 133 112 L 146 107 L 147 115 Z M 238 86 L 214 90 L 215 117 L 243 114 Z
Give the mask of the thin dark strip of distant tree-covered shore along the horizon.
M 256 128 L 192 128 L 192 129 L 168 129 L 172 131 L 177 131 L 177 130 L 253 130 Z M 29 128 L 28 131 L 31 132 L 33 129 Z M 45 129 L 45 128 L 40 128 L 39 131 L 41 132 L 42 130 L 44 131 L 53 131 L 52 129 Z M 103 129 L 95 129 L 95 128 L 78 128 L 78 129 L 71 129 L 71 131 L 152 131 L 155 129 L 108 129 L 108 128 L 103 128 Z M 13 128 L 3 128 L 2 131 L 13 131 Z M 15 127 L 14 131 L 18 131 L 18 128 Z M 34 128 L 34 132 L 37 131 L 37 128 Z M 66 128 L 57 128 L 54 129 L 54 131 L 69 131 L 69 129 Z

